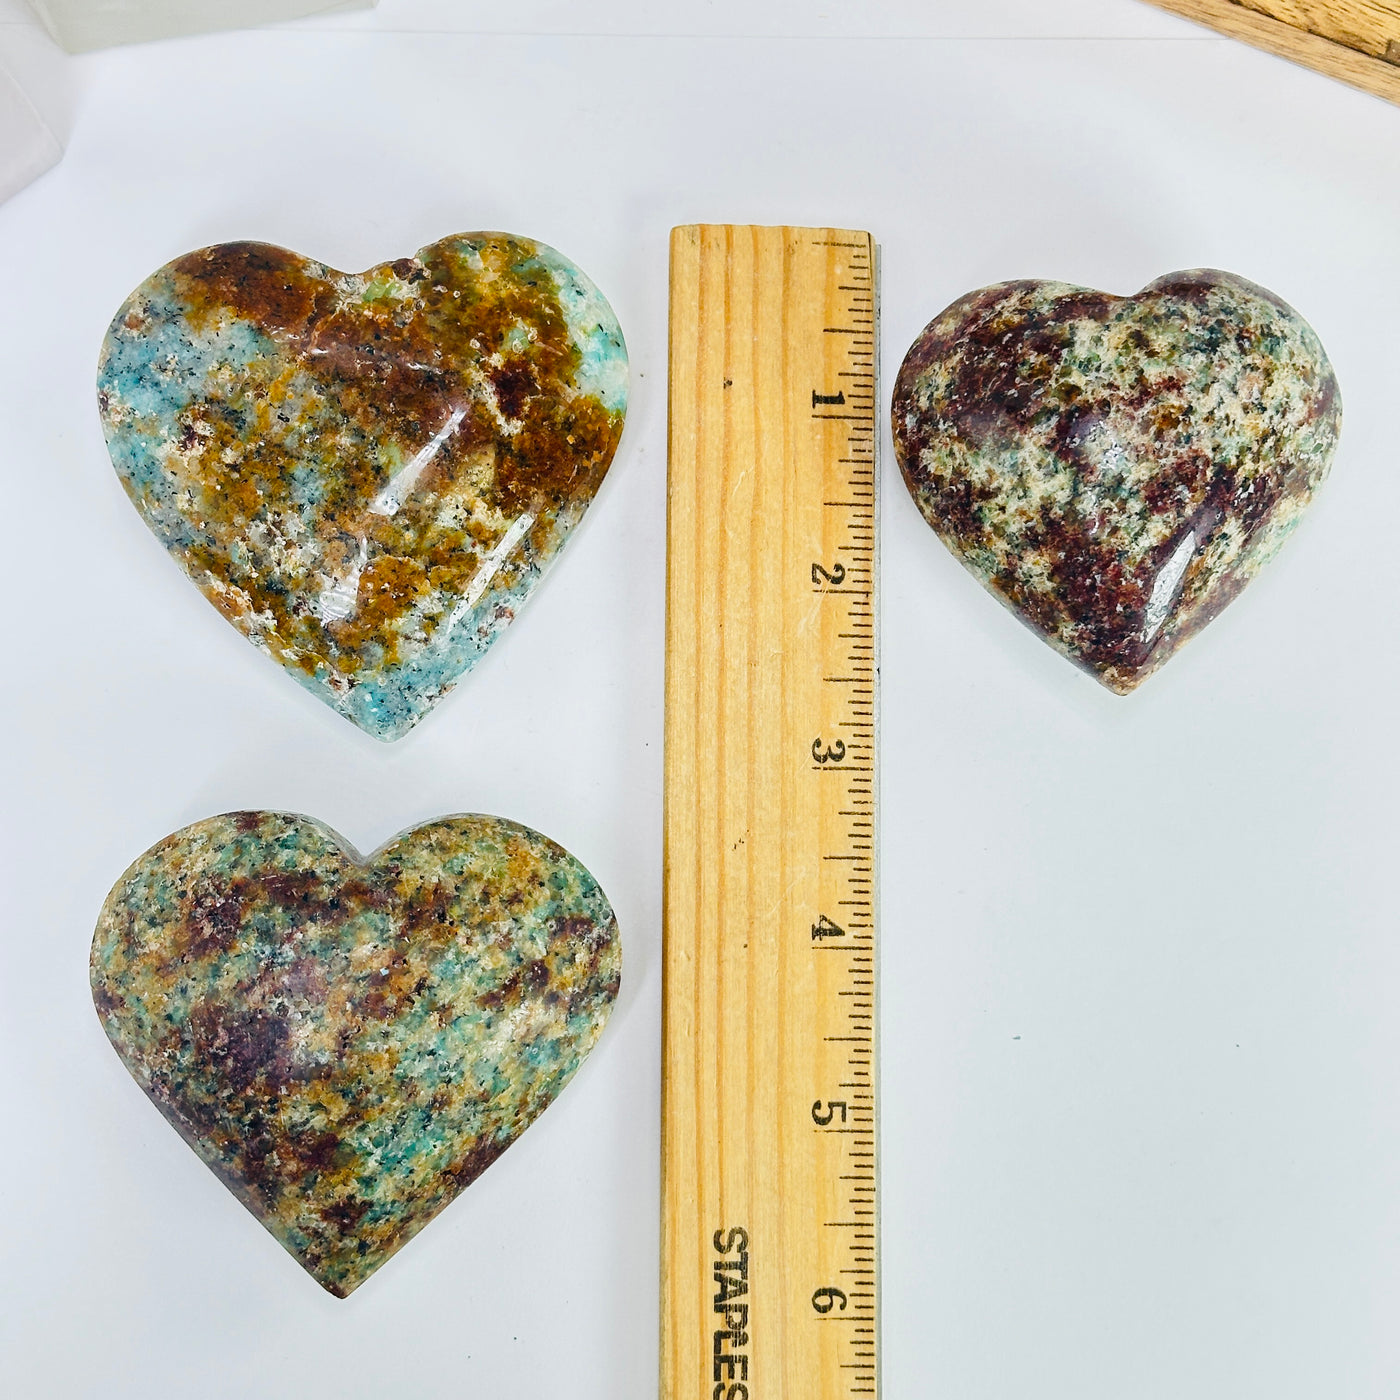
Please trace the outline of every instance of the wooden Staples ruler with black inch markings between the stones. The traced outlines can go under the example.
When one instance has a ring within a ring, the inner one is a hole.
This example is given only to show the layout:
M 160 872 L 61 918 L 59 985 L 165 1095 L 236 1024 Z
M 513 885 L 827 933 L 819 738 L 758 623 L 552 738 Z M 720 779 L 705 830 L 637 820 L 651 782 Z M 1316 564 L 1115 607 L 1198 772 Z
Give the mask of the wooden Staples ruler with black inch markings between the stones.
M 878 1389 L 874 262 L 671 239 L 664 1400 Z

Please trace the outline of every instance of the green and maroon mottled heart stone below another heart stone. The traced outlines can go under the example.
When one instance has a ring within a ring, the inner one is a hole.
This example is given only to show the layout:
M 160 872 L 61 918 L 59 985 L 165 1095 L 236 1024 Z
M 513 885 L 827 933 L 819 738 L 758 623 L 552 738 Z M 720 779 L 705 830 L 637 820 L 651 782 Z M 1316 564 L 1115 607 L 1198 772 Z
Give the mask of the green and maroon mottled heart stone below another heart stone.
M 493 816 L 367 860 L 302 816 L 196 822 L 116 882 L 91 962 L 132 1077 L 340 1298 L 554 1100 L 619 974 L 598 882 Z

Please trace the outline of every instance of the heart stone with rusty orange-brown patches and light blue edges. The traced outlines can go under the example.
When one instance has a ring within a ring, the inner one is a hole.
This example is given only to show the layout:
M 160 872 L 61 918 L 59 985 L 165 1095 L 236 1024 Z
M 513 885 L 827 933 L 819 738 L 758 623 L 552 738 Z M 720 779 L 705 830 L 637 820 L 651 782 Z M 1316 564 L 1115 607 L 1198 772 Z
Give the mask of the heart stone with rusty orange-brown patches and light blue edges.
M 253 645 L 379 739 L 514 619 L 612 461 L 627 351 L 566 258 L 462 234 L 367 273 L 168 263 L 98 367 L 112 462 Z

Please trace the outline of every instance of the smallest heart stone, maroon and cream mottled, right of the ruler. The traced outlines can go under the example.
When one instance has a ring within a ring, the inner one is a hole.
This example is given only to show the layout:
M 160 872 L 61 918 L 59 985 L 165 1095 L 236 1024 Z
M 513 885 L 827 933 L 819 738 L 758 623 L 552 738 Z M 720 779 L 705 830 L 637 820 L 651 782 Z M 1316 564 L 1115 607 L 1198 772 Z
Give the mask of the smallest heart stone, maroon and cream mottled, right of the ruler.
M 895 451 L 944 543 L 1126 694 L 1273 557 L 1327 475 L 1341 399 L 1273 293 L 1179 272 L 1135 297 L 1008 281 L 914 342 Z

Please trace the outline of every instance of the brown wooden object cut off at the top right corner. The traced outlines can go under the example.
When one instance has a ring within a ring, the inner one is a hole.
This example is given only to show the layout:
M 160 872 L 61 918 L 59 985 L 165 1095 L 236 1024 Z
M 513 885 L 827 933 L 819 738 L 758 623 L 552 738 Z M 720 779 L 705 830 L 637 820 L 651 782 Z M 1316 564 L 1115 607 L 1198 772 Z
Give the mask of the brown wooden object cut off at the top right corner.
M 1379 0 L 1148 0 L 1221 34 L 1400 102 L 1400 7 Z

